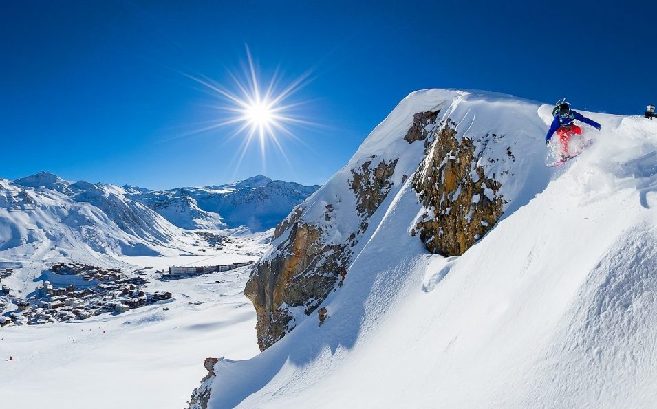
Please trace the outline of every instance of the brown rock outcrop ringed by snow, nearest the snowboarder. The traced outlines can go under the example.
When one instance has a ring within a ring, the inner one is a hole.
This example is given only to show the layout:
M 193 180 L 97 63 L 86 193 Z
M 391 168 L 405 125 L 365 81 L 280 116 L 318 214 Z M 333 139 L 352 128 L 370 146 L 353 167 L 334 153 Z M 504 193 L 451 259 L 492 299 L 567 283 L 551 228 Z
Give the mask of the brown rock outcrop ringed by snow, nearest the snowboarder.
M 458 139 L 451 125 L 446 120 L 435 129 L 433 141 L 425 142 L 426 156 L 413 177 L 425 209 L 415 230 L 430 252 L 460 256 L 493 228 L 504 199 L 495 175 L 486 177 L 480 165 L 486 144 L 497 135 L 486 135 L 475 146 L 468 137 Z M 513 153 L 508 155 L 513 159 Z

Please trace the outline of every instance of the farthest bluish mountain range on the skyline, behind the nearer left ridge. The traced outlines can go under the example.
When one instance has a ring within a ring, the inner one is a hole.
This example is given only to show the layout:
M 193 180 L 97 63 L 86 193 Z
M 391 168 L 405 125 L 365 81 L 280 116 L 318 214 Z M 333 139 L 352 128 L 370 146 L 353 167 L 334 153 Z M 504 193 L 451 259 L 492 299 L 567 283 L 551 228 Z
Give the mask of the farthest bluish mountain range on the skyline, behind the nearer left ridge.
M 58 192 L 76 203 L 90 203 L 125 232 L 158 242 L 171 239 L 169 227 L 173 226 L 162 227 L 153 214 L 144 210 L 152 210 L 185 230 L 247 228 L 263 232 L 319 188 L 257 175 L 232 184 L 158 191 L 130 185 L 70 182 L 48 172 L 4 181 L 2 185 L 15 186 L 18 192 L 27 190 L 23 195 L 30 195 L 30 201 L 40 201 L 40 195 L 50 197 L 52 192 Z

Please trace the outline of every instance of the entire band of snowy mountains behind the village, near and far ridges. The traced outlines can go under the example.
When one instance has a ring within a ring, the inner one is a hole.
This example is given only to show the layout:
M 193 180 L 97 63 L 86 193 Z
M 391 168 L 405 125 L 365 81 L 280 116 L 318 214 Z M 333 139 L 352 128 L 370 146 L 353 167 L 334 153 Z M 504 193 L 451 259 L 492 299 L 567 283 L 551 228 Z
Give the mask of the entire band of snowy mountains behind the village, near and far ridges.
M 195 238 L 187 230 L 230 227 L 225 234 L 263 232 L 314 190 L 316 186 L 263 176 L 166 192 L 65 181 L 47 172 L 15 181 L 1 179 L 0 255 L 15 260 L 76 255 L 78 261 L 91 262 L 121 255 L 175 254 L 193 244 Z M 211 203 L 213 210 L 226 212 L 231 224 L 217 212 L 203 210 L 194 196 Z

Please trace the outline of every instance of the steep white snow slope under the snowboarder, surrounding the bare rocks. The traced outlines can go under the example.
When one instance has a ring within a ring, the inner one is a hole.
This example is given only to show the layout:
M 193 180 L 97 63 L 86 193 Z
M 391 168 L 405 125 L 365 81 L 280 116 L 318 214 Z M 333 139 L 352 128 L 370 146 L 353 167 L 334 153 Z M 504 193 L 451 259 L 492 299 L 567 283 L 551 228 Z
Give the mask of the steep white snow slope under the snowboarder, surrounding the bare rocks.
M 423 152 L 402 137 L 413 113 L 437 108 L 461 136 L 506 135 L 522 171 L 502 183 L 504 217 L 460 257 L 409 234 L 422 209 L 402 175 Z M 315 311 L 260 355 L 219 362 L 209 407 L 656 406 L 657 123 L 583 112 L 603 131 L 585 129 L 596 144 L 553 170 L 550 110 L 478 91 L 400 102 L 301 205 L 321 223 L 328 198 L 349 197 L 354 164 L 398 159 L 345 284 L 323 302 L 329 318 L 319 327 Z M 352 204 L 325 225 L 336 241 L 358 222 Z

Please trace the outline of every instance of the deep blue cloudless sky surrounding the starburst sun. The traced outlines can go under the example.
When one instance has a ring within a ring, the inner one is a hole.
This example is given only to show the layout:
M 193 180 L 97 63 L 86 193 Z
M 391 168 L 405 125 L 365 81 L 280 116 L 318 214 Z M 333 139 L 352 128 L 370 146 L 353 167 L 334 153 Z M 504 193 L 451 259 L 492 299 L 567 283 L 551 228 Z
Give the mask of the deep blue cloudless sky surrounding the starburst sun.
M 608 113 L 657 102 L 657 3 L 8 1 L 0 12 L 0 177 L 50 170 L 148 188 L 257 173 L 321 184 L 409 92 L 485 89 Z M 561 4 L 559 4 L 561 3 Z M 235 166 L 219 99 L 244 45 L 263 78 L 314 69 L 288 102 L 321 126 Z

